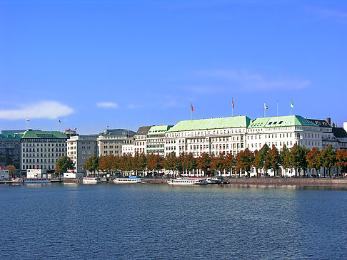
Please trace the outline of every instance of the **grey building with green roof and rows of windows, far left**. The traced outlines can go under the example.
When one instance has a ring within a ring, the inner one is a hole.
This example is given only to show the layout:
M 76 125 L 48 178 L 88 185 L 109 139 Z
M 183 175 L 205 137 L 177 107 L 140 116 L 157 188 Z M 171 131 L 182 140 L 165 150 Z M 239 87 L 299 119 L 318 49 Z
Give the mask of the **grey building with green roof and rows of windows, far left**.
M 26 130 L 21 137 L 21 171 L 56 170 L 56 161 L 66 155 L 67 136 L 58 131 Z

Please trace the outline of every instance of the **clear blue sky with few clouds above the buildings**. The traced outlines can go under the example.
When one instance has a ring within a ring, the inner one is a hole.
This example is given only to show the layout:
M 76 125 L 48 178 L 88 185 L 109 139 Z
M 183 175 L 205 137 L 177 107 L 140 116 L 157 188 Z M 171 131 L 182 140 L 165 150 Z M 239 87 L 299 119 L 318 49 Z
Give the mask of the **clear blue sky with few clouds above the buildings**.
M 347 121 L 347 1 L 0 1 L 0 130 Z

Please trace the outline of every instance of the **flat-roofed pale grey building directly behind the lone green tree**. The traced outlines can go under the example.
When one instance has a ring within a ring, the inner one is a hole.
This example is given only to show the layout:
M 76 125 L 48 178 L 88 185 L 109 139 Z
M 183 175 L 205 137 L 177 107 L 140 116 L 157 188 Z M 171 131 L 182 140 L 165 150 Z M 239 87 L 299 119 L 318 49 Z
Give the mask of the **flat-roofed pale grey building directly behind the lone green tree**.
M 75 172 L 86 172 L 83 168 L 86 160 L 98 155 L 98 135 L 72 135 L 66 140 L 67 155 L 74 162 Z

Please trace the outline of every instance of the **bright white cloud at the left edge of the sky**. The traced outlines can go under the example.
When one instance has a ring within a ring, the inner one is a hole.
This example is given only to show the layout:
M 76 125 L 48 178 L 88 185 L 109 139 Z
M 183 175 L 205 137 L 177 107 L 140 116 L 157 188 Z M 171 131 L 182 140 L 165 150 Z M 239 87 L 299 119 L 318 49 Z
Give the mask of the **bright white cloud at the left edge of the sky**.
M 28 117 L 56 119 L 64 115 L 70 115 L 74 110 L 67 105 L 56 101 L 41 101 L 39 103 L 21 105 L 21 108 L 0 110 L 0 118 L 18 120 Z

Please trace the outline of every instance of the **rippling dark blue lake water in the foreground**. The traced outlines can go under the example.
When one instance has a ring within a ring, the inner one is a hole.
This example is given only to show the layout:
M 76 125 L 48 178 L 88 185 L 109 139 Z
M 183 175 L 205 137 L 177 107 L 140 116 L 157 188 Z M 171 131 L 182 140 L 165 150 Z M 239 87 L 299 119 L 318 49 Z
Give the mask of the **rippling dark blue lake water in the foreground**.
M 346 259 L 347 191 L 0 186 L 0 259 Z

